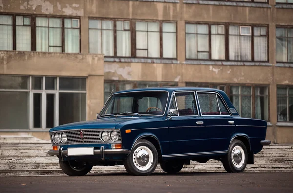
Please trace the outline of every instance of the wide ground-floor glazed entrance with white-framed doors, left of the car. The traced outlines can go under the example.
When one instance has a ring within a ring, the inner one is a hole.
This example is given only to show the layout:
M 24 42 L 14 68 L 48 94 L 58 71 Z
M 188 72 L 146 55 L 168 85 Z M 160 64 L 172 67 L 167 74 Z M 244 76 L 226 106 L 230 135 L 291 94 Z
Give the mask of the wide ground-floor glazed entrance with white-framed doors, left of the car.
M 1 75 L 0 99 L 0 129 L 46 129 L 86 119 L 85 78 Z

